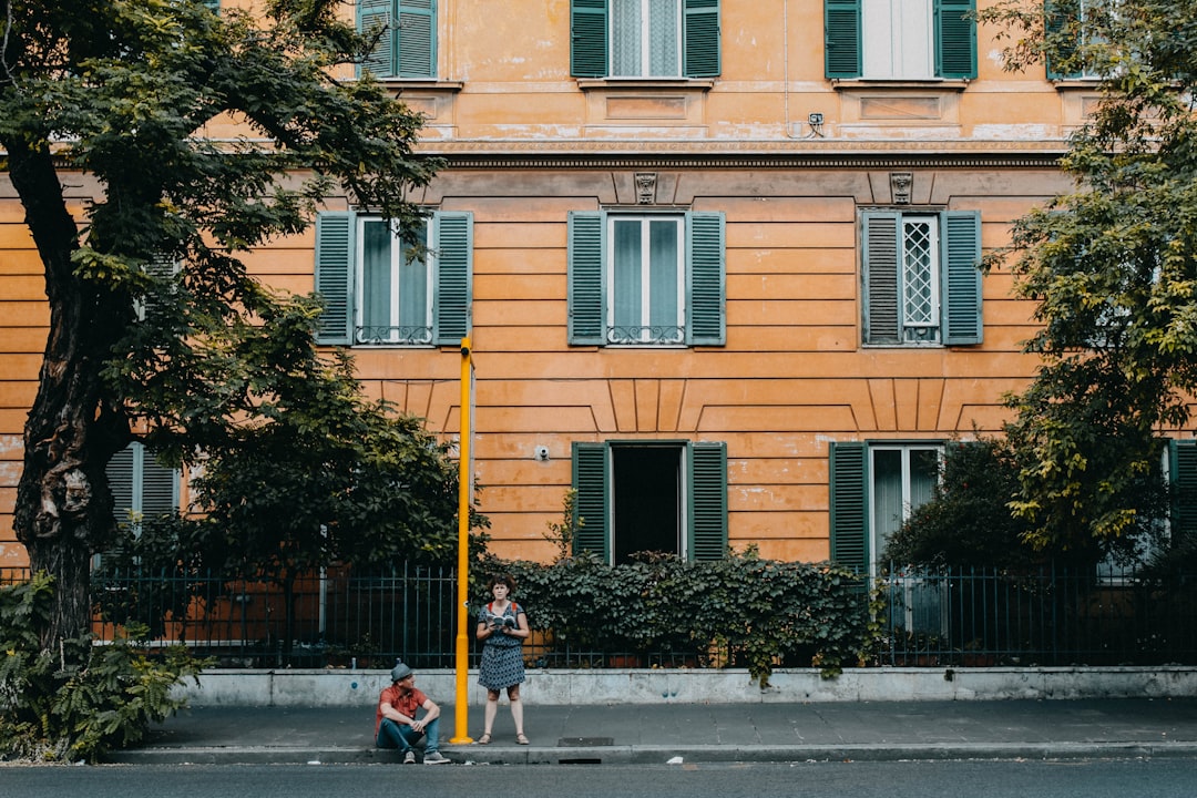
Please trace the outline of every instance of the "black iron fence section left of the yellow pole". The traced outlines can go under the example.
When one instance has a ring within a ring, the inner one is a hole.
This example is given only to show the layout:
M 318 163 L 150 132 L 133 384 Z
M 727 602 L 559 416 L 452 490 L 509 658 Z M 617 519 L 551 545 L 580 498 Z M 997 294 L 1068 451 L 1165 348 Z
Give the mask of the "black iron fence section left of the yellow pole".
M 456 574 L 405 566 L 294 579 L 121 573 L 93 578 L 93 632 L 132 625 L 186 642 L 224 668 L 452 665 Z

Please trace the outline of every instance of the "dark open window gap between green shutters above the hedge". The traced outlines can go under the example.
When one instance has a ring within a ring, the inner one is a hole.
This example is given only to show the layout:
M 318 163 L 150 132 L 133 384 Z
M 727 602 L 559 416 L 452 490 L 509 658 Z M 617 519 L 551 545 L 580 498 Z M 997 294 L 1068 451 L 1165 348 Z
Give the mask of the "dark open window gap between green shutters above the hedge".
M 615 565 L 637 552 L 685 554 L 681 446 L 612 446 Z

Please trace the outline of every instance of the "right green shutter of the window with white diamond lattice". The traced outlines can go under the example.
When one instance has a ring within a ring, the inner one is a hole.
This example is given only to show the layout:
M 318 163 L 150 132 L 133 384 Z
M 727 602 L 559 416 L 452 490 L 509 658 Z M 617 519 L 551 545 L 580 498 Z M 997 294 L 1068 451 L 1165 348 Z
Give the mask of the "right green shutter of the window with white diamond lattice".
M 943 343 L 980 343 L 982 324 L 980 214 L 943 214 L 940 267 L 943 270 Z

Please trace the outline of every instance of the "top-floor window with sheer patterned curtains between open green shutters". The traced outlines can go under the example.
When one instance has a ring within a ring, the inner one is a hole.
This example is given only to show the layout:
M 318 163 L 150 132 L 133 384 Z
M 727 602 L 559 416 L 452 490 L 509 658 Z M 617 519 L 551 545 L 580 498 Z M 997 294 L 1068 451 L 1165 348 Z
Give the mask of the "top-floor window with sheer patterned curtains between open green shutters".
M 713 78 L 719 0 L 571 0 L 578 78 Z

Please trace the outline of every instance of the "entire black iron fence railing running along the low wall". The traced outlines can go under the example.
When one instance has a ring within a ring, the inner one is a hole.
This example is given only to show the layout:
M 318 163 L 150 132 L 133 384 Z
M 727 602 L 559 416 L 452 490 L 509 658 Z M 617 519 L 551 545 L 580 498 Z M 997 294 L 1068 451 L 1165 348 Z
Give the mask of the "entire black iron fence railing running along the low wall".
M 28 577 L 0 569 L 0 584 Z M 290 583 L 96 574 L 92 631 L 111 640 L 139 626 L 157 645 L 182 642 L 218 668 L 389 668 L 396 658 L 451 668 L 456 595 L 455 571 L 415 566 L 371 575 L 329 569 Z M 1197 664 L 1197 575 L 889 568 L 871 596 L 880 633 L 864 652 L 870 665 Z M 480 647 L 470 640 L 476 666 Z M 524 656 L 545 668 L 737 664 L 735 652 L 715 648 L 697 657 L 578 650 L 541 632 Z

